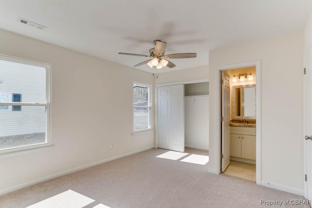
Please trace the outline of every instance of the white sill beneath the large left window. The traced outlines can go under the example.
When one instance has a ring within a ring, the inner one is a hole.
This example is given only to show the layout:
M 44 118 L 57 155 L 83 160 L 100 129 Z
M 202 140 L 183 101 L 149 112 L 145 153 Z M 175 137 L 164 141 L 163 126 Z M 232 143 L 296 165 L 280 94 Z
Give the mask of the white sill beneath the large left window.
M 48 151 L 52 150 L 54 145 L 52 144 L 44 144 L 44 145 L 34 145 L 31 147 L 21 147 L 17 149 L 10 149 L 10 150 L 2 150 L 0 151 L 0 159 L 6 157 L 14 157 L 19 156 L 27 153 L 33 153 L 38 151 Z

